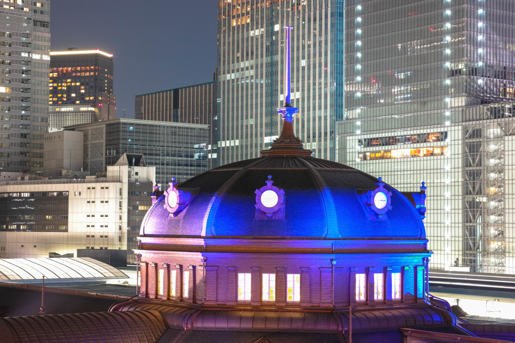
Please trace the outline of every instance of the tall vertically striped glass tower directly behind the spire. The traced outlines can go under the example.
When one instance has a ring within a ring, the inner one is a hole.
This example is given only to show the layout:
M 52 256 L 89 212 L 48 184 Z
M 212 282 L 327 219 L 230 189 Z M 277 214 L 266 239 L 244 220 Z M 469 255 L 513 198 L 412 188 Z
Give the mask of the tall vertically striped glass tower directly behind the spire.
M 343 0 L 218 1 L 218 164 L 260 156 L 281 129 L 284 26 L 291 30 L 291 105 L 305 148 L 335 159 L 344 112 Z

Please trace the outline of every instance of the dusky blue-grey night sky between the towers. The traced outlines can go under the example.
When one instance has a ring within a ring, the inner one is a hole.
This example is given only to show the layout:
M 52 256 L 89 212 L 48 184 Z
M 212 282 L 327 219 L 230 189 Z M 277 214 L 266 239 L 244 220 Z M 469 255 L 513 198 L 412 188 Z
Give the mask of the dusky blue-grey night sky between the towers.
M 116 116 L 134 96 L 213 81 L 216 0 L 52 0 L 52 51 L 113 54 Z

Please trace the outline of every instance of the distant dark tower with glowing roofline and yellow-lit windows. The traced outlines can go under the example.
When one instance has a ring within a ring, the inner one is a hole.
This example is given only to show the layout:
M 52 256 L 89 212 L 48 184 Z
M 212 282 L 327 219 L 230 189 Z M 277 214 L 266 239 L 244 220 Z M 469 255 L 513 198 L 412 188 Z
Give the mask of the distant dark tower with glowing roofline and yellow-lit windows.
M 113 55 L 101 50 L 50 52 L 49 131 L 116 118 Z

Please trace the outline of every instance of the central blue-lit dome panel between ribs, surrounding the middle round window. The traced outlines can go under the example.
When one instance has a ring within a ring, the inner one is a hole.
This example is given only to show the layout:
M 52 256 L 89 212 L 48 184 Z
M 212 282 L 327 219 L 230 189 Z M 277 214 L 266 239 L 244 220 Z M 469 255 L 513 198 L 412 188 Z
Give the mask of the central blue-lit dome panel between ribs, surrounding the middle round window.
M 254 191 L 272 176 L 273 185 L 286 194 L 284 217 L 262 218 L 254 207 Z M 249 169 L 239 177 L 221 198 L 213 221 L 213 235 L 219 236 L 323 236 L 324 211 L 319 192 L 306 169 Z

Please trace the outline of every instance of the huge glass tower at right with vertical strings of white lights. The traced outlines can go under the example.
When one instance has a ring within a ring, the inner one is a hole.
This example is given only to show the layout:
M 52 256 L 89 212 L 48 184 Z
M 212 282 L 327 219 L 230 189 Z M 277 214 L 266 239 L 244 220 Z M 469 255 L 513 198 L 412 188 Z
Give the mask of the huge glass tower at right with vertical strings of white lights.
M 348 0 L 346 28 L 339 162 L 426 182 L 432 268 L 515 273 L 512 112 L 482 105 L 514 96 L 515 4 Z

